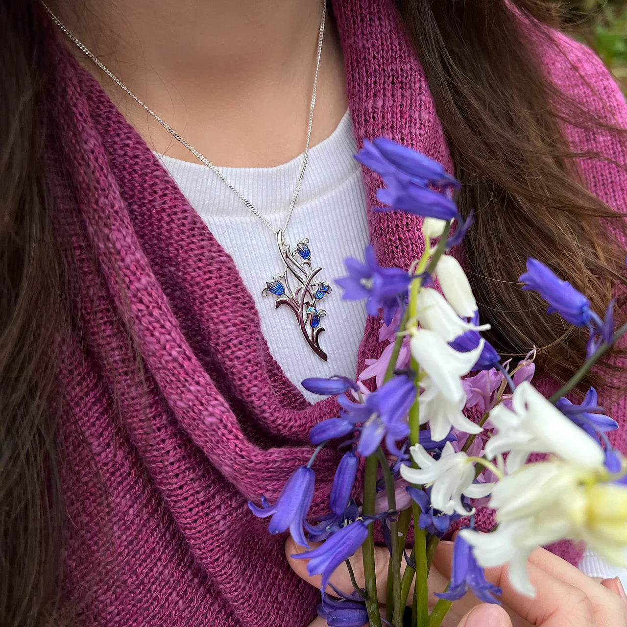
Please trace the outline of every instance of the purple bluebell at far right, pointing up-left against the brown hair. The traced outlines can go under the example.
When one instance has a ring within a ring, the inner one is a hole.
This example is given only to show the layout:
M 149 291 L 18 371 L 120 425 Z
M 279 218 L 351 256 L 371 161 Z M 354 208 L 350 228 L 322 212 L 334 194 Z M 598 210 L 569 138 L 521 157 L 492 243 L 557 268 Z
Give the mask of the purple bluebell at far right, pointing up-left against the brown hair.
M 581 292 L 533 257 L 527 260 L 527 271 L 520 276 L 520 282 L 525 283 L 523 290 L 534 290 L 549 303 L 547 314 L 558 312 L 576 327 L 590 327 L 593 322 L 601 322 Z

